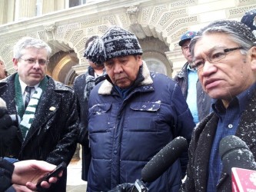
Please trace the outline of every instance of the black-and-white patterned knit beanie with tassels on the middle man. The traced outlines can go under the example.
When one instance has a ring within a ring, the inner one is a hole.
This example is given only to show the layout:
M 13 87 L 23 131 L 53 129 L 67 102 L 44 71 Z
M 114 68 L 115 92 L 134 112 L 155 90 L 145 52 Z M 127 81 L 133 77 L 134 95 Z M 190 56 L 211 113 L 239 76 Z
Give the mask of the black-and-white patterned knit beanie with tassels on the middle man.
M 85 50 L 85 58 L 103 63 L 111 58 L 125 55 L 142 55 L 141 45 L 135 34 L 113 26 L 101 38 L 96 38 Z

